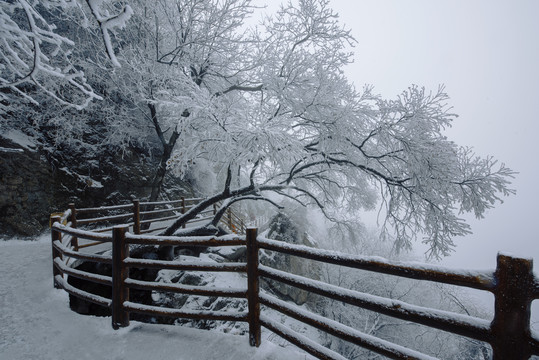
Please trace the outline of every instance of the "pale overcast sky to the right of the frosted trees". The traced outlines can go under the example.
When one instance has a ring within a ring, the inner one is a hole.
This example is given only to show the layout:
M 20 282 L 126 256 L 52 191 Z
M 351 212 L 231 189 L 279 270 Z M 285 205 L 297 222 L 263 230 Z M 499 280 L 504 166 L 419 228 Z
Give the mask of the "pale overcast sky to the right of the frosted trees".
M 448 136 L 520 174 L 517 195 L 470 217 L 445 263 L 493 268 L 498 251 L 539 265 L 539 1 L 330 0 L 358 44 L 357 85 L 394 97 L 411 84 L 445 84 L 459 115 Z M 536 265 L 536 269 L 538 266 Z

